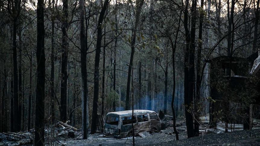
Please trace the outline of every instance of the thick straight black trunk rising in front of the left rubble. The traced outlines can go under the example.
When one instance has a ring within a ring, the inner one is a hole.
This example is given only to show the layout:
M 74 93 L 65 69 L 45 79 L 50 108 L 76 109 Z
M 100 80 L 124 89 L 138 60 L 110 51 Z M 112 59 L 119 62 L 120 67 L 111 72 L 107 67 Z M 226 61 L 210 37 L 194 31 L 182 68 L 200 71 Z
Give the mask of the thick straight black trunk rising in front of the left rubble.
M 44 52 L 44 1 L 37 3 L 37 81 L 35 100 L 35 146 L 44 145 L 44 98 L 45 98 L 45 52 Z

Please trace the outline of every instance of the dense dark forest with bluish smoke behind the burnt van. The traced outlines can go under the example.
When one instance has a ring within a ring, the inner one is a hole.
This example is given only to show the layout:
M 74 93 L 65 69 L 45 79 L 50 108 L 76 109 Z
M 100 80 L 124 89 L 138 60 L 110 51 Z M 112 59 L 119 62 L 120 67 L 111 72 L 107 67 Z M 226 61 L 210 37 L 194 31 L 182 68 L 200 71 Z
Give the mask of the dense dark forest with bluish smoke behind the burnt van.
M 243 90 L 230 80 L 232 58 L 258 57 L 259 0 L 3 0 L 0 17 L 0 132 L 57 119 L 95 133 L 98 113 L 132 108 L 192 122 L 210 112 L 213 86 L 225 115 L 257 95 L 253 64 L 238 63 Z

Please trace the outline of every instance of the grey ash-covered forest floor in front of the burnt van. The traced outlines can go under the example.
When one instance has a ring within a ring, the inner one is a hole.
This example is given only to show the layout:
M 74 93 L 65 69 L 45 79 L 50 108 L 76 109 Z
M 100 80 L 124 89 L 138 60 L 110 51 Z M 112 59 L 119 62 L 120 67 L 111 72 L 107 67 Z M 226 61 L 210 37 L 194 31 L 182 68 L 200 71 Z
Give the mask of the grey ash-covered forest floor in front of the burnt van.
M 166 123 L 167 128 L 160 132 L 148 135 L 147 137 L 136 136 L 135 146 L 217 146 L 217 145 L 240 145 L 240 146 L 260 146 L 260 130 L 242 130 L 233 132 L 206 132 L 203 135 L 193 138 L 187 138 L 185 122 L 179 121 L 177 129 L 179 130 L 179 139 L 176 141 L 176 135 L 172 134 L 173 127 Z M 250 136 L 251 133 L 251 136 Z M 108 138 L 103 137 L 101 133 L 89 135 L 88 139 L 78 138 L 56 138 L 57 145 L 65 146 L 132 146 L 132 138 Z M 56 145 L 55 144 L 55 145 Z

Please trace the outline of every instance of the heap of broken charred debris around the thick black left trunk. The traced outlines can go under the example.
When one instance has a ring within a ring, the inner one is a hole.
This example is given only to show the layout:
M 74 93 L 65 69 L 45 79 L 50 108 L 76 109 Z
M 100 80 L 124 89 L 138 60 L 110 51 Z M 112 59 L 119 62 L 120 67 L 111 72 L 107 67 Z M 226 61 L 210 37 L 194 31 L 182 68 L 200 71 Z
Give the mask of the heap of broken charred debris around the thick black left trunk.
M 58 120 L 57 120 L 58 121 Z M 68 121 L 67 121 L 68 122 Z M 79 129 L 72 127 L 66 123 L 58 121 L 55 125 L 45 126 L 46 144 L 54 141 L 59 143 L 60 138 L 75 138 L 78 139 L 82 132 Z M 3 132 L 0 133 L 0 146 L 17 146 L 33 144 L 34 129 L 25 132 Z

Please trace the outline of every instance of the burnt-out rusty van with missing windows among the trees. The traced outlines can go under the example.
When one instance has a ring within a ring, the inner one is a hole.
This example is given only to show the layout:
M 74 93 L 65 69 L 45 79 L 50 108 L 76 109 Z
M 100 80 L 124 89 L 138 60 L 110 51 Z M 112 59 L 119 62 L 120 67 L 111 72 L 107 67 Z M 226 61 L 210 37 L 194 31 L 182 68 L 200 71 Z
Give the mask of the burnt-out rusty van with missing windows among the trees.
M 161 120 L 157 113 L 151 110 L 134 110 L 133 120 L 132 110 L 107 113 L 104 122 L 104 135 L 115 138 L 125 138 L 146 131 L 154 133 L 160 130 Z

